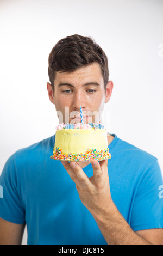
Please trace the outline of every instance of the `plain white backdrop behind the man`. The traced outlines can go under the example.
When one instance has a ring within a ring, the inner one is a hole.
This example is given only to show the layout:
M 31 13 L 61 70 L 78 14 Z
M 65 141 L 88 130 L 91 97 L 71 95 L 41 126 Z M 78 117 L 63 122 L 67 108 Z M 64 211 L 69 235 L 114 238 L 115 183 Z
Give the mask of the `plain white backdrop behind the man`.
M 0 173 L 16 150 L 55 133 L 48 55 L 73 34 L 91 36 L 108 56 L 108 132 L 157 157 L 163 170 L 162 13 L 162 0 L 1 0 Z

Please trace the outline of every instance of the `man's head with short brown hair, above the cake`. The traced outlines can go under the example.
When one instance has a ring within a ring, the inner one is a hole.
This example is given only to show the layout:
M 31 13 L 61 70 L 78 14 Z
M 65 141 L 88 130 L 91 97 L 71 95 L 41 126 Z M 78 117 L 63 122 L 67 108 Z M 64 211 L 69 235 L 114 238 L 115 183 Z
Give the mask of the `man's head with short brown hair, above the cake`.
M 59 123 L 80 122 L 80 106 L 84 123 L 101 121 L 113 84 L 108 81 L 107 57 L 92 39 L 73 35 L 60 40 L 49 54 L 48 74 L 48 95 Z

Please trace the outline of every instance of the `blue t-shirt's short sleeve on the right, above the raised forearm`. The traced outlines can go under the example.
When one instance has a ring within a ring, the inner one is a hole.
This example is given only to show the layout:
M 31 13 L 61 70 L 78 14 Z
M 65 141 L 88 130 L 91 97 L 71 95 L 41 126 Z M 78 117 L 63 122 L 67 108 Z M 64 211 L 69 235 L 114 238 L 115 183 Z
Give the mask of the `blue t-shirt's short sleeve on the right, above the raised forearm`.
M 162 174 L 155 159 L 139 181 L 131 214 L 130 225 L 134 231 L 163 228 L 163 198 L 159 197 L 161 185 Z

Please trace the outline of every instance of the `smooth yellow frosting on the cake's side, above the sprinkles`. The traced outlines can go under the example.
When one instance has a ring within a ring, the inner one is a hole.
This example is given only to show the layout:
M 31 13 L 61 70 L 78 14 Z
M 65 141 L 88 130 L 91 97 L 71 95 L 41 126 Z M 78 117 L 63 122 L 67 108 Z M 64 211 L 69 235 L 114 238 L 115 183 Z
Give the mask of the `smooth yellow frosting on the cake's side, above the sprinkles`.
M 57 130 L 54 148 L 64 154 L 85 154 L 87 149 L 104 150 L 108 148 L 106 129 L 64 129 Z M 55 149 L 54 149 L 55 152 Z

